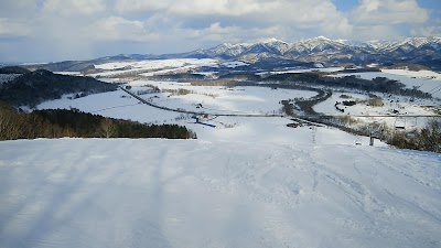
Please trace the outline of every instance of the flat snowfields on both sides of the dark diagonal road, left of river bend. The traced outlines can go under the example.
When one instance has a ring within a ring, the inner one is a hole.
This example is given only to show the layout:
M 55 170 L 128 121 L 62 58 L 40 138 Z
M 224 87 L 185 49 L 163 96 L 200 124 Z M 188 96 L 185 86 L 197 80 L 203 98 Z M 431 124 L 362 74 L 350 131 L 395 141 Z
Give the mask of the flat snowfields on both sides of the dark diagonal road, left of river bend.
M 185 83 L 174 82 L 131 82 L 132 91 L 146 90 L 149 87 L 143 85 L 157 86 L 160 89 L 190 90 L 187 95 L 172 95 L 171 93 L 142 95 L 144 99 L 150 99 L 155 105 L 173 109 L 185 109 L 190 111 L 201 111 L 208 114 L 279 114 L 283 99 L 295 97 L 313 97 L 314 91 L 302 90 L 272 90 L 266 87 L 218 87 L 218 86 L 191 86 Z M 37 109 L 51 108 L 77 108 L 86 112 L 98 114 L 107 117 L 132 119 L 141 122 L 174 122 L 181 116 L 176 112 L 169 112 L 139 105 L 139 101 L 131 98 L 122 90 L 90 95 L 78 99 L 63 99 L 45 101 L 37 106 Z M 203 108 L 197 108 L 201 104 Z

